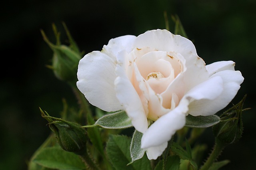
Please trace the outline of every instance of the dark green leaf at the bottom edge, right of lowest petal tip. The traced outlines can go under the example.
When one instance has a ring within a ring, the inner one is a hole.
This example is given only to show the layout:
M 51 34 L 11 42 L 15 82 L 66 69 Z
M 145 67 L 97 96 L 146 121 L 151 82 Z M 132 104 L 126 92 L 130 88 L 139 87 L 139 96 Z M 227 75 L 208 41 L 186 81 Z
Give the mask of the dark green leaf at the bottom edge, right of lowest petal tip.
M 163 160 L 158 162 L 154 170 L 163 169 Z M 166 161 L 166 170 L 179 170 L 180 169 L 180 157 L 177 155 L 168 156 Z

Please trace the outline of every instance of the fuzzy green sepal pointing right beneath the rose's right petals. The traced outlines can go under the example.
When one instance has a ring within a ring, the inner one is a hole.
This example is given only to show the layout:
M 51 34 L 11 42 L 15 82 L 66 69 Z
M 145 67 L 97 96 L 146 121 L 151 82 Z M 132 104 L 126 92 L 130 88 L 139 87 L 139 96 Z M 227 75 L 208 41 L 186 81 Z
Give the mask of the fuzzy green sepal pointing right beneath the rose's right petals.
M 220 122 L 219 116 L 186 116 L 186 125 L 189 128 L 208 128 Z

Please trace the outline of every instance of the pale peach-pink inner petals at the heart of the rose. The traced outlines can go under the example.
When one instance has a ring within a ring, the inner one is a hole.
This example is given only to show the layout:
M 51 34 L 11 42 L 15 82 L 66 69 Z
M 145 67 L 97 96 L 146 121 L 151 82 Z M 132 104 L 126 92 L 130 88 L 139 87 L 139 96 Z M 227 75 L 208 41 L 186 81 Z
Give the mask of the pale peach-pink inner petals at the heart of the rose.
M 146 50 L 144 50 L 144 52 L 145 51 Z M 140 53 L 140 55 L 136 56 L 134 62 L 136 63 L 144 81 L 146 81 L 150 88 L 154 91 L 154 95 L 158 96 L 160 96 L 160 94 L 168 88 L 172 81 L 174 81 L 176 76 L 183 71 L 181 62 L 172 52 L 149 51 L 145 52 L 144 54 Z M 142 103 L 144 104 L 143 101 L 145 101 L 146 97 L 142 93 L 137 82 L 133 84 L 142 100 Z M 168 100 L 167 102 L 164 102 L 164 106 L 159 106 L 159 101 L 153 101 L 151 99 L 148 101 L 148 108 L 144 107 L 145 110 L 148 109 L 148 119 L 155 121 L 162 116 L 162 114 L 165 114 L 165 112 L 162 112 L 160 108 L 173 109 L 179 102 L 176 94 L 170 94 L 168 99 L 162 98 L 162 100 Z

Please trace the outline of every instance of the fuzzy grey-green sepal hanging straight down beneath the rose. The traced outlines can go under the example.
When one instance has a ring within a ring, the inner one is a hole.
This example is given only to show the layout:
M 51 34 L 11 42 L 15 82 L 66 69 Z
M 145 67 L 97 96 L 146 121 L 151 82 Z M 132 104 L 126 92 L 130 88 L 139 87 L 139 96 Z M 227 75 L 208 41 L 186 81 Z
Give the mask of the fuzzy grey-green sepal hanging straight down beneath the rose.
M 135 130 L 132 136 L 132 143 L 130 146 L 130 154 L 132 157 L 132 162 L 142 158 L 146 151 L 145 149 L 140 148 L 142 135 L 143 134 L 141 132 Z M 131 164 L 132 162 L 130 162 L 129 164 Z

